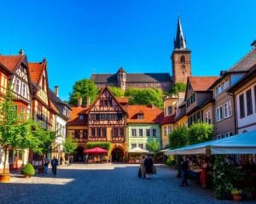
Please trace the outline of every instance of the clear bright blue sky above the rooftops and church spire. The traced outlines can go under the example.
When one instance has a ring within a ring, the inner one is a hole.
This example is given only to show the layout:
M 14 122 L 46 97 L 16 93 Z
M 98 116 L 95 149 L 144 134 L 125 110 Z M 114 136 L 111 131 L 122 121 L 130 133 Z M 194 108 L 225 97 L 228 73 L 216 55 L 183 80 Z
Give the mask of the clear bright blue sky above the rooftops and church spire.
M 256 40 L 254 0 L 44 0 L 1 3 L 0 53 L 48 60 L 49 86 L 68 99 L 95 73 L 170 72 L 180 15 L 194 76 L 218 76 Z

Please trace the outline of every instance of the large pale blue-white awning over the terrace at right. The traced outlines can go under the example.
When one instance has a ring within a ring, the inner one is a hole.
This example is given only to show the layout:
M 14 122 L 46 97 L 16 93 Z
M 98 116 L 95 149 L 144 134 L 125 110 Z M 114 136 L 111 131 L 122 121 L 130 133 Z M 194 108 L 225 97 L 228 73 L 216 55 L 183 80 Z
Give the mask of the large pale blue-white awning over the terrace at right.
M 192 144 L 169 150 L 166 155 L 225 155 L 225 154 L 256 154 L 256 130 L 240 133 L 235 136 L 215 139 L 199 144 Z

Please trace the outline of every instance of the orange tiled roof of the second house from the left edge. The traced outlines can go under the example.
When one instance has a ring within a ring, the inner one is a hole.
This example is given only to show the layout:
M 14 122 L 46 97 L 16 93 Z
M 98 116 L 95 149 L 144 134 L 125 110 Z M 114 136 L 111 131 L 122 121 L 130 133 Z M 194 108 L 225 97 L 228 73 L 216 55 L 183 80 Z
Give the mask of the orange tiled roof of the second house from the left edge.
M 31 62 L 28 63 L 28 71 L 29 71 L 32 82 L 35 82 L 36 84 L 38 84 L 45 65 L 46 65 L 45 61 L 39 62 L 39 63 L 31 63 Z

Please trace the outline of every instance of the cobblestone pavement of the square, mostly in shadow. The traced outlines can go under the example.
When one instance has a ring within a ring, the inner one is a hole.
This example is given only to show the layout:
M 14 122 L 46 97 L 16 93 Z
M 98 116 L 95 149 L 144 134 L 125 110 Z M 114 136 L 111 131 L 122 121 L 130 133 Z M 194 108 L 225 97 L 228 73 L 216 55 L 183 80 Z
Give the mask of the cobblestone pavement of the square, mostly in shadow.
M 167 167 L 157 167 L 149 180 L 137 178 L 137 170 L 137 165 L 127 164 L 72 164 L 59 167 L 57 176 L 14 174 L 11 183 L 0 184 L 0 203 L 233 203 L 216 200 L 211 190 L 201 190 L 191 181 L 189 187 L 179 187 L 176 172 Z

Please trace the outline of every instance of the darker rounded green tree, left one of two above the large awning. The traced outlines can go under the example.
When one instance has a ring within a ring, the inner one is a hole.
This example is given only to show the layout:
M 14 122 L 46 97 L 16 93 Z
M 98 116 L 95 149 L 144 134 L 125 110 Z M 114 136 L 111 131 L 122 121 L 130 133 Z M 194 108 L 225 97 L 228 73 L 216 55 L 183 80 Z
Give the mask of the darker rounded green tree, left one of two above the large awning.
M 188 127 L 177 127 L 169 134 L 171 149 L 183 147 L 188 144 Z

